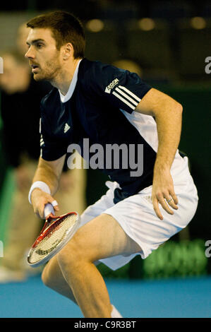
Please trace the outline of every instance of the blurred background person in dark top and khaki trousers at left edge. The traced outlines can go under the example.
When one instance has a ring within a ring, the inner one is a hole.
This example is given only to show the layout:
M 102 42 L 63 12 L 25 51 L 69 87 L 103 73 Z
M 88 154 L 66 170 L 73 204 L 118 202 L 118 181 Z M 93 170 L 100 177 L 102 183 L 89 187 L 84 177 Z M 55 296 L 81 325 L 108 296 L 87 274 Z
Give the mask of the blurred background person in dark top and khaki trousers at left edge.
M 49 89 L 32 80 L 27 62 L 16 49 L 4 52 L 1 57 L 4 59 L 4 73 L 0 76 L 3 148 L 16 184 L 0 268 L 0 282 L 3 282 L 24 280 L 23 257 L 41 227 L 30 211 L 27 193 L 40 155 L 40 100 Z

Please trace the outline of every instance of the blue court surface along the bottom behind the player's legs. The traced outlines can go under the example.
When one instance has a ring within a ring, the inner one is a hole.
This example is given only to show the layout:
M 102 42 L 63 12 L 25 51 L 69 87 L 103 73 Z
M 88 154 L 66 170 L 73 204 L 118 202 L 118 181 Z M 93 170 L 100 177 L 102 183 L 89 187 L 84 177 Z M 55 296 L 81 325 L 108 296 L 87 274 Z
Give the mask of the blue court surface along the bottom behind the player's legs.
M 106 280 L 125 318 L 210 318 L 211 276 L 167 280 Z M 80 309 L 42 284 L 0 285 L 0 318 L 82 318 Z

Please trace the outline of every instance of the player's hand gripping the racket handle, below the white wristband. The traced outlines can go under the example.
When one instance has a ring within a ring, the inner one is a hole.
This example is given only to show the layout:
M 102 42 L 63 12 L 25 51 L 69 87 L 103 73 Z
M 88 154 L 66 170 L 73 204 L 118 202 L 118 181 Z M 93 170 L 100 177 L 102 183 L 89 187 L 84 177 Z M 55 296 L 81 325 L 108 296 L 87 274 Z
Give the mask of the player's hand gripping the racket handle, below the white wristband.
M 55 198 L 53 198 L 50 194 L 47 194 L 46 192 L 42 191 L 40 188 L 35 188 L 32 191 L 31 194 L 31 201 L 32 206 L 34 209 L 34 212 L 37 214 L 39 218 L 45 219 L 44 216 L 44 206 L 47 203 L 52 203 L 55 201 Z M 59 211 L 59 206 L 54 206 L 54 211 Z

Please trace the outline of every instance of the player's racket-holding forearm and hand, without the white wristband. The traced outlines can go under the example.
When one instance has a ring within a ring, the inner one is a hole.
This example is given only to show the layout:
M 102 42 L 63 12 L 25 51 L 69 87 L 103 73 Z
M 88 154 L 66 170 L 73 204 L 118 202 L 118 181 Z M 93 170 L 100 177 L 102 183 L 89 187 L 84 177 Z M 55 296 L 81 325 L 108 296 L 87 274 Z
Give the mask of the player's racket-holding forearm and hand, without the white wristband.
M 66 155 L 63 155 L 57 160 L 47 161 L 40 157 L 32 183 L 34 184 L 37 181 L 44 182 L 44 184 L 49 186 L 50 194 L 40 188 L 35 188 L 32 190 L 30 198 L 35 213 L 41 218 L 44 218 L 44 206 L 47 203 L 55 201 L 53 195 L 59 188 L 59 179 L 64 167 L 65 158 Z M 54 206 L 54 209 L 59 211 L 59 206 Z

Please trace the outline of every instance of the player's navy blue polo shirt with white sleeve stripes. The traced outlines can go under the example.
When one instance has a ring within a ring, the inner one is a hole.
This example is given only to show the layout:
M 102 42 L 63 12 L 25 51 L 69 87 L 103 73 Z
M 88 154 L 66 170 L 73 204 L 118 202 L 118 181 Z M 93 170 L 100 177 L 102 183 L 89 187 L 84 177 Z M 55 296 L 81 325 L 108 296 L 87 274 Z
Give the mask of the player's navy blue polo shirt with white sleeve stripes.
M 85 139 L 89 146 L 101 146 L 103 154 L 99 168 L 121 187 L 116 193 L 116 203 L 152 184 L 156 152 L 123 114 L 132 114 L 151 87 L 136 73 L 88 59 L 80 61 L 76 79 L 76 86 L 67 101 L 62 100 L 56 88 L 42 99 L 41 155 L 44 160 L 56 160 L 67 153 L 71 143 L 81 147 L 82 156 L 88 155 L 83 150 Z M 121 153 L 118 167 L 114 165 L 115 153 L 109 155 L 111 160 L 107 167 L 107 146 L 115 144 L 128 148 L 128 158 L 133 146 L 134 162 L 140 162 L 138 146 L 143 147 L 141 175 L 131 176 L 133 170 L 129 162 L 126 167 L 125 155 L 123 157 Z M 94 152 L 89 153 L 89 158 L 93 155 Z

